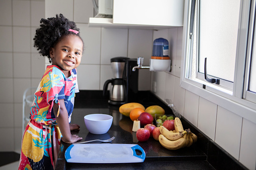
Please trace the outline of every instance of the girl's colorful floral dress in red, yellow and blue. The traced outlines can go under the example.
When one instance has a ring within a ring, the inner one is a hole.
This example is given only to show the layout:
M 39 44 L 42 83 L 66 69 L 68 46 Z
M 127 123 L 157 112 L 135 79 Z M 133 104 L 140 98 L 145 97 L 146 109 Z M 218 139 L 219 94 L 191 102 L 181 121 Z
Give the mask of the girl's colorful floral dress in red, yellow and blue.
M 30 121 L 24 131 L 19 169 L 54 169 L 61 132 L 53 113 L 53 102 L 64 99 L 69 122 L 78 92 L 76 69 L 66 78 L 57 66 L 47 66 L 34 94 Z M 57 116 L 59 114 L 59 110 Z

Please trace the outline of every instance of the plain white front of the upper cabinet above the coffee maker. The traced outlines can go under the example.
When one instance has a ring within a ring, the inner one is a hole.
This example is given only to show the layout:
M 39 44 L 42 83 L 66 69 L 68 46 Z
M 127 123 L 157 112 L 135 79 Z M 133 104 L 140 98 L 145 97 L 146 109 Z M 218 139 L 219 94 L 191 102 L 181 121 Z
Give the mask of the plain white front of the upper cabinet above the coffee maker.
M 184 0 L 114 0 L 113 23 L 183 26 Z

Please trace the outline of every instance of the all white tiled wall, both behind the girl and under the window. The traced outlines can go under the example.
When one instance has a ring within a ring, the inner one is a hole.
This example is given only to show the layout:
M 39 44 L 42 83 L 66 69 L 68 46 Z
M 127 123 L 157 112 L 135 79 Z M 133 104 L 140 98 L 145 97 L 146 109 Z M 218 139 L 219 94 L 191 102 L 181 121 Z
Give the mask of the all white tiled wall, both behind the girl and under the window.
M 44 7 L 46 11 L 44 11 Z M 35 29 L 41 18 L 62 13 L 80 28 L 85 43 L 77 68 L 81 90 L 102 90 L 112 78 L 110 59 L 117 56 L 144 57 L 149 65 L 154 39 L 169 42 L 172 72 L 139 70 L 139 90 L 151 90 L 160 99 L 174 101 L 178 111 L 192 124 L 249 169 L 255 169 L 256 124 L 197 94 L 180 87 L 183 28 L 159 31 L 88 27 L 93 17 L 91 0 L 0 1 L 0 151 L 19 151 L 22 138 L 22 94 L 38 85 L 48 59 L 33 48 Z M 3 41 L 4 40 L 4 41 Z M 156 84 L 156 91 L 153 85 Z

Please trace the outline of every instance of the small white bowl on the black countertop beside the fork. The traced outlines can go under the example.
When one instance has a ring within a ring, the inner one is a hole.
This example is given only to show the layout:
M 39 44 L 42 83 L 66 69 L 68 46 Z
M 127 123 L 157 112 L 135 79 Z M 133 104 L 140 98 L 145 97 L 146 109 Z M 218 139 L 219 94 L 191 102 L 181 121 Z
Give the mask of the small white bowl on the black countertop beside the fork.
M 89 114 L 84 116 L 84 123 L 90 133 L 104 134 L 109 131 L 113 117 L 108 114 Z

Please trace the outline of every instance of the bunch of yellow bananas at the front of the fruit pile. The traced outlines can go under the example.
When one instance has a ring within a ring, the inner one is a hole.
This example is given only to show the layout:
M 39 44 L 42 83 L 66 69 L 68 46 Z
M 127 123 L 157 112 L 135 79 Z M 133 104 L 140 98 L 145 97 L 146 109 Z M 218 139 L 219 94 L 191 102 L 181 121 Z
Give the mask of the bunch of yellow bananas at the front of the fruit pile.
M 177 150 L 182 147 L 189 147 L 197 141 L 197 136 L 190 129 L 183 129 L 179 117 L 175 118 L 175 130 L 168 130 L 164 126 L 159 127 L 160 135 L 158 137 L 160 144 L 170 150 Z

